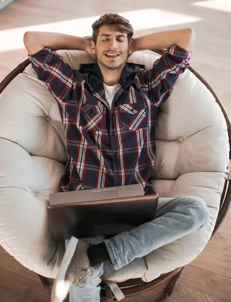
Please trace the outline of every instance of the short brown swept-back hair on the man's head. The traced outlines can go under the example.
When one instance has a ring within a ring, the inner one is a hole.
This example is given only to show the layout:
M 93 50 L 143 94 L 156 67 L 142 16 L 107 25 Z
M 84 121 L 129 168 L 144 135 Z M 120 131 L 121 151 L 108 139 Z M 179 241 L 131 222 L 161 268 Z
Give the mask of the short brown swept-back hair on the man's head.
M 126 33 L 128 37 L 128 43 L 130 43 L 133 36 L 133 27 L 130 22 L 118 14 L 105 14 L 91 25 L 93 29 L 92 41 L 95 44 L 99 34 L 99 27 L 103 25 L 109 25 L 122 33 Z

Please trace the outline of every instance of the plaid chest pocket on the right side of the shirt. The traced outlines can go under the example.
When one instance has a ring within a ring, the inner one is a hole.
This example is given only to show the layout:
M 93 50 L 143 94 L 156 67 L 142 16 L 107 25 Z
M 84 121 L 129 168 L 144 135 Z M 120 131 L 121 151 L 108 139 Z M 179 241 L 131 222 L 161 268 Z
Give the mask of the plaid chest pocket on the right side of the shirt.
M 120 105 L 122 128 L 139 130 L 147 127 L 145 103 L 132 103 Z

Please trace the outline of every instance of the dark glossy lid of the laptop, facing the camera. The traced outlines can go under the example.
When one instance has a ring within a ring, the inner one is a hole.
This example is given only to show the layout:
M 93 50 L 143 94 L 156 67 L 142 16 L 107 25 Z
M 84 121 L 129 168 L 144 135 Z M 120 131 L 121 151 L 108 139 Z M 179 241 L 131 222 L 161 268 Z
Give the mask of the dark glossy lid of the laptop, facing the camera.
M 155 218 L 158 198 L 158 194 L 150 194 L 49 205 L 52 238 L 80 239 L 130 231 Z

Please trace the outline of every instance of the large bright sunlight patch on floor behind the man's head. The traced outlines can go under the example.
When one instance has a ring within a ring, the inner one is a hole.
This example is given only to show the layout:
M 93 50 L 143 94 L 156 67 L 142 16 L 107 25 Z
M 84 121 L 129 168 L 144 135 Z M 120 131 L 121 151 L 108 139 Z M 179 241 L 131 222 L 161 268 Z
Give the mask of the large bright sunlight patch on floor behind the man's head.
M 183 25 L 201 20 L 201 18 L 194 16 L 157 9 L 121 12 L 119 15 L 124 16 L 130 21 L 134 31 L 180 24 Z M 91 25 L 99 18 L 100 16 L 94 16 L 2 30 L 0 31 L 0 52 L 23 49 L 25 47 L 23 36 L 26 31 L 57 32 L 80 37 L 89 36 L 92 34 Z M 189 26 L 187 25 L 185 27 Z M 184 26 L 182 26 L 182 28 L 184 28 Z

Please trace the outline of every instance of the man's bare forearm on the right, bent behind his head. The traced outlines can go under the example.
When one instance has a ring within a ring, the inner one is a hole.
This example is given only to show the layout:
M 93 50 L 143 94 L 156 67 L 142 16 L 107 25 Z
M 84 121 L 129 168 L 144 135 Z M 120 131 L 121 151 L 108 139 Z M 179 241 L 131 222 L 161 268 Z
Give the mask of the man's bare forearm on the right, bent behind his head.
M 194 41 L 195 32 L 191 28 L 168 30 L 135 38 L 134 51 L 169 48 L 173 44 L 190 51 Z

